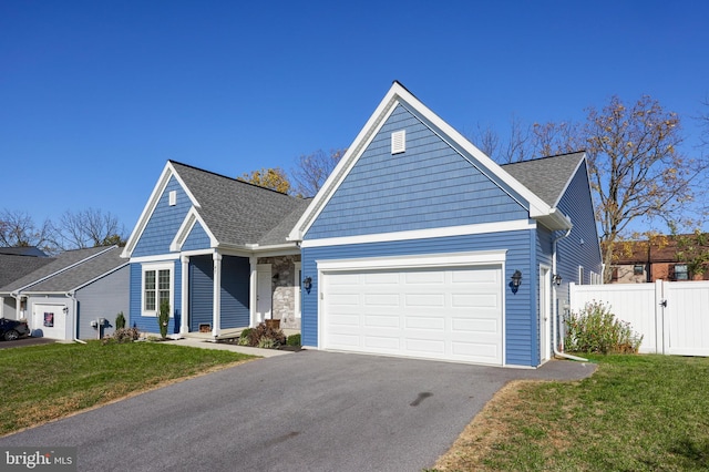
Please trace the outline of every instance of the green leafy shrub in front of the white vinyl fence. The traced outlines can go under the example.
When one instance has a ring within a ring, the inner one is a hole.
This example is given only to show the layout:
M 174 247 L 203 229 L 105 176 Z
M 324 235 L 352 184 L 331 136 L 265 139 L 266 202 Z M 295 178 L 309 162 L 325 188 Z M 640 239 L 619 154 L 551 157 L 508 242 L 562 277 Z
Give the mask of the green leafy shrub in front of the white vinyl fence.
M 629 322 L 616 319 L 610 307 L 598 301 L 586 304 L 579 314 L 566 316 L 565 321 L 564 345 L 569 351 L 635 353 L 643 341 Z

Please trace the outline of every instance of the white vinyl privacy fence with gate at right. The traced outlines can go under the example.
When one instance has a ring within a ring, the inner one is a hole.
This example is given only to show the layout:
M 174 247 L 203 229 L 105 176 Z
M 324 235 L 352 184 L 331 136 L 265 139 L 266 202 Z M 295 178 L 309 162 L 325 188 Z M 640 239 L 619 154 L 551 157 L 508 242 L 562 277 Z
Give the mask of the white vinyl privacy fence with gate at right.
M 617 319 L 643 335 L 640 352 L 709 356 L 709 281 L 575 285 L 569 308 L 587 302 L 610 306 Z

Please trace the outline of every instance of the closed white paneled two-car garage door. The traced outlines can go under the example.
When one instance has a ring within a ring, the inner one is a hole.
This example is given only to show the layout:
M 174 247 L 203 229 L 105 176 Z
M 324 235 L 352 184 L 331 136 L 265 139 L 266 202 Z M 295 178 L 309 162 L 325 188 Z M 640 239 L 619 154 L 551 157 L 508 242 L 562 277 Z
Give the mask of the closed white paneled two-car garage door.
M 501 277 L 500 265 L 323 273 L 323 347 L 502 365 Z

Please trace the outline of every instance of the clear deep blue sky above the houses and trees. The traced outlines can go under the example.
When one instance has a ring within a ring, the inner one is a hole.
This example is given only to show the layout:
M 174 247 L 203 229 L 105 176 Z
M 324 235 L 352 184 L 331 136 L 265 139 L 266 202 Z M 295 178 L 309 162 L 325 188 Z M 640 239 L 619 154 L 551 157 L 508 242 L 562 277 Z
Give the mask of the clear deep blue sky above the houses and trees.
M 130 232 L 172 158 L 217 173 L 347 147 L 399 80 L 464 134 L 709 98 L 705 1 L 0 2 L 0 208 Z M 705 109 L 706 111 L 706 109 Z

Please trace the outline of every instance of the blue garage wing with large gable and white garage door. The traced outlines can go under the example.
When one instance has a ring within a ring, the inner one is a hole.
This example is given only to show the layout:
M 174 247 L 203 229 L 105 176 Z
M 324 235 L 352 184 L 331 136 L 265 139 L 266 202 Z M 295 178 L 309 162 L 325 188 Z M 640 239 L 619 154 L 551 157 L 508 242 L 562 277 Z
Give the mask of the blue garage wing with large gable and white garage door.
M 398 82 L 289 239 L 318 349 L 536 367 L 602 274 L 583 153 L 500 166 Z

